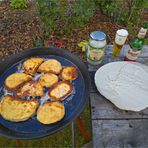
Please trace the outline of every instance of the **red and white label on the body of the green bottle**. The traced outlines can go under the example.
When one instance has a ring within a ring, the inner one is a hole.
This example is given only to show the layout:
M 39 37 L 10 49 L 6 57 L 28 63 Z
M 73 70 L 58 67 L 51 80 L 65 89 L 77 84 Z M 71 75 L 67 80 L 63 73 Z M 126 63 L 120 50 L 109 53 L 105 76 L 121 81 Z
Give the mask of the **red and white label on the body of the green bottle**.
M 126 58 L 129 60 L 136 60 L 138 58 L 138 55 L 140 54 L 140 51 L 134 50 L 129 47 L 128 53 L 126 55 Z

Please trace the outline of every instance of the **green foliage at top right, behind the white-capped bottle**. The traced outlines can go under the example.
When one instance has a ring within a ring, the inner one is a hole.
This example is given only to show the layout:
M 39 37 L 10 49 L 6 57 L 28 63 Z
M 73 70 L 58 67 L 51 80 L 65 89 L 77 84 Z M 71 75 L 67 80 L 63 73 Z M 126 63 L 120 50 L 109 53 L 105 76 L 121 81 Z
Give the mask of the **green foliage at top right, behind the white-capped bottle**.
M 147 0 L 95 0 L 102 13 L 129 29 L 140 23 L 146 2 Z

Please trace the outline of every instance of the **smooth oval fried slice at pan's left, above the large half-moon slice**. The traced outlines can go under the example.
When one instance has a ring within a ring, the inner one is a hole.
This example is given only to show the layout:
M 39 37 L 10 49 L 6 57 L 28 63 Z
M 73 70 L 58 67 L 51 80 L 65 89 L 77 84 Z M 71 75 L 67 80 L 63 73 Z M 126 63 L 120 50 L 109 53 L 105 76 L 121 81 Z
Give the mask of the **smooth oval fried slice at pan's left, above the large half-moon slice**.
M 13 73 L 6 78 L 5 86 L 7 89 L 15 91 L 31 79 L 32 76 L 25 73 Z

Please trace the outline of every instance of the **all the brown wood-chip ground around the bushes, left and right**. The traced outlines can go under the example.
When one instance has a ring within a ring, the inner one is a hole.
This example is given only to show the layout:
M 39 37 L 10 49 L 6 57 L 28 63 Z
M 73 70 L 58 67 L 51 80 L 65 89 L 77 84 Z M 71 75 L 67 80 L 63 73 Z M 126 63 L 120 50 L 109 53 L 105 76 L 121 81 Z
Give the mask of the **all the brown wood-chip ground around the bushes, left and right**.
M 14 10 L 10 8 L 9 3 L 0 2 L 0 14 L 0 58 L 34 47 L 33 41 L 38 36 L 40 23 L 33 3 L 27 9 Z M 147 12 L 143 17 L 144 20 L 148 20 Z M 63 42 L 63 48 L 83 58 L 85 54 L 77 44 L 82 40 L 88 40 L 90 32 L 104 31 L 107 35 L 107 43 L 112 44 L 115 32 L 119 28 L 123 27 L 96 12 L 83 28 L 73 29 L 70 34 L 63 35 L 60 39 Z

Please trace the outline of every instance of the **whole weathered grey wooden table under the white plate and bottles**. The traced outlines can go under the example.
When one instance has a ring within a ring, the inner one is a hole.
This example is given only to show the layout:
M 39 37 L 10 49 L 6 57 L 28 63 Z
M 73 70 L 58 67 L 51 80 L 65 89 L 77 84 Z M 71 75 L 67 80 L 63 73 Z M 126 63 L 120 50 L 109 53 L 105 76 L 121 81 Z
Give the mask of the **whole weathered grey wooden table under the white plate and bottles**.
M 127 52 L 125 46 L 121 56 L 112 59 L 111 49 L 112 46 L 107 47 L 103 64 L 123 60 L 123 56 Z M 148 65 L 148 46 L 144 47 L 138 61 Z M 120 110 L 101 96 L 94 84 L 94 74 L 98 68 L 89 65 L 92 80 L 90 102 L 93 146 L 95 148 L 148 147 L 148 109 L 141 112 Z

